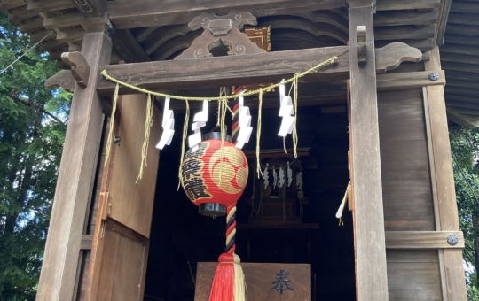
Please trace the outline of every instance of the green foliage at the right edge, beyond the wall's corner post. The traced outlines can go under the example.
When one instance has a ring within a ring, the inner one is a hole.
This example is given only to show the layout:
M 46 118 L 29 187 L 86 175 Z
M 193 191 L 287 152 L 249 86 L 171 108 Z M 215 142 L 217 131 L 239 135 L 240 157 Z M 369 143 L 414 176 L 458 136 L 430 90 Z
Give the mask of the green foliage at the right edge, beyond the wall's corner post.
M 467 296 L 470 301 L 479 301 L 479 133 L 464 127 L 449 130 L 459 226 L 466 244 Z

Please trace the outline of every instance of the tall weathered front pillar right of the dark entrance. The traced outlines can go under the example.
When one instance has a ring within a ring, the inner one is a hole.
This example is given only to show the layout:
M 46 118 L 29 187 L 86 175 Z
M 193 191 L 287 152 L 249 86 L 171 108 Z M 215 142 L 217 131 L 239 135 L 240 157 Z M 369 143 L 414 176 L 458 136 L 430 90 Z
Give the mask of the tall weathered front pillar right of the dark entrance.
M 365 66 L 359 66 L 361 63 L 358 52 L 361 50 L 358 47 L 357 29 L 361 28 L 357 28 L 358 26 L 365 26 Z M 388 279 L 371 1 L 349 1 L 349 49 L 350 148 L 354 185 L 357 300 L 387 301 Z

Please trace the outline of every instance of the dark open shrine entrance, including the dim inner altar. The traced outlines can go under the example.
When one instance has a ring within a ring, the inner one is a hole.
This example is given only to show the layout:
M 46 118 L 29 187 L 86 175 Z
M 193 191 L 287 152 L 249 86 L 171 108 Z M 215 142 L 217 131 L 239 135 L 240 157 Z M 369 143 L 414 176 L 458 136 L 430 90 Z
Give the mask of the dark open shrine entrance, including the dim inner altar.
M 273 188 L 271 169 L 269 183 L 265 185 L 261 181 L 263 187 L 260 188 L 254 172 L 255 135 L 243 149 L 248 158 L 249 177 L 247 189 L 238 202 L 236 252 L 242 260 L 246 277 L 255 277 L 255 282 L 268 282 L 263 297 L 269 297 L 268 294 L 273 292 L 281 296 L 279 291 L 270 289 L 274 287 L 275 273 L 283 268 L 296 289 L 283 292 L 285 300 L 307 296 L 302 295 L 298 288 L 307 293 L 306 289 L 311 289 L 311 300 L 356 300 L 353 224 L 348 206 L 344 210 L 343 226 L 339 226 L 335 217 L 349 181 L 346 91 L 345 85 L 336 88 L 335 92 L 329 89 L 329 99 L 326 99 L 321 96 L 328 89 L 326 85 L 302 85 L 302 96 L 312 105 L 304 102 L 307 105 L 298 108 L 297 159 L 292 155 L 291 136 L 285 140 L 288 153 L 283 151 L 283 139 L 277 133 L 281 122 L 278 108 L 271 105 L 271 108 L 263 109 L 260 143 L 263 167 L 266 164 L 287 167 L 290 162 L 294 172 L 302 172 L 302 199 L 297 195 L 300 189 L 296 189 L 296 183 L 293 183 L 286 189 L 283 204 L 281 192 Z M 276 103 L 278 91 L 264 97 L 265 104 L 269 100 L 271 104 Z M 247 98 L 245 101 L 252 106 L 252 123 L 255 124 L 257 110 L 254 104 L 257 99 Z M 203 127 L 203 133 L 208 133 L 216 125 L 215 107 L 210 104 L 210 121 L 207 127 Z M 185 115 L 180 112 L 184 112 L 184 108 L 178 106 L 174 111 L 177 124 L 183 124 Z M 192 114 L 198 111 L 199 106 L 191 109 Z M 231 120 L 227 126 L 231 128 Z M 210 285 L 212 274 L 204 275 L 207 279 L 203 281 L 201 273 L 205 270 L 201 266 L 205 262 L 216 266 L 217 258 L 224 250 L 224 217 L 201 216 L 183 189 L 177 190 L 180 149 L 181 135 L 175 135 L 169 147 L 161 151 L 145 300 L 208 300 L 208 296 L 200 296 L 198 287 L 202 282 Z M 260 191 L 263 197 L 260 197 Z M 248 275 L 249 263 L 254 266 L 255 274 Z M 269 263 L 278 264 L 275 265 L 278 271 L 263 265 Z M 302 270 L 305 268 L 310 270 L 304 278 L 310 279 L 294 282 L 299 274 L 304 275 Z M 303 287 L 304 283 L 306 286 Z M 196 295 L 195 289 L 199 292 Z M 259 289 L 255 284 L 248 285 L 250 295 L 257 294 Z

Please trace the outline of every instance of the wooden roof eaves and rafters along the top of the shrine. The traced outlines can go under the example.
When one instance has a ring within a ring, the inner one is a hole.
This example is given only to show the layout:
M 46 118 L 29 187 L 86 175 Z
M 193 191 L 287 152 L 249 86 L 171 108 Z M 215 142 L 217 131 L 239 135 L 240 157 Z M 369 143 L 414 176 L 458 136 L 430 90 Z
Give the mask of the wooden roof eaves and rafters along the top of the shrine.
M 272 51 L 344 45 L 348 15 L 343 0 L 191 1 L 163 0 L 0 0 L 0 11 L 20 25 L 52 60 L 80 50 L 83 35 L 107 29 L 114 43 L 111 63 L 164 60 L 189 47 L 200 31 L 187 23 L 201 12 L 246 10 L 259 27 L 271 27 Z M 451 4 L 451 13 L 449 13 Z M 377 0 L 376 47 L 405 42 L 423 52 L 441 44 L 446 70 L 446 104 L 451 120 L 479 127 L 479 4 L 459 0 Z M 449 15 L 449 18 L 448 18 Z M 447 26 L 446 26 L 447 20 Z M 445 34 L 444 34 L 445 33 Z M 50 34 L 50 35 L 49 35 Z M 426 55 L 427 59 L 428 56 Z M 414 70 L 415 71 L 415 70 Z

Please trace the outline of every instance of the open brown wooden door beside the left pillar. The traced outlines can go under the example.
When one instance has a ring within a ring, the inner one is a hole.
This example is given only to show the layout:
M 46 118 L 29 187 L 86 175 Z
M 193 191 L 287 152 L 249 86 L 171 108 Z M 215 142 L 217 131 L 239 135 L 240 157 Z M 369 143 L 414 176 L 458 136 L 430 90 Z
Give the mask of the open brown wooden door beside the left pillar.
M 120 96 L 110 158 L 103 172 L 86 300 L 143 300 L 160 151 L 161 114 L 153 127 L 143 179 L 137 181 L 145 137 L 146 96 Z M 137 181 L 137 183 L 136 183 Z

